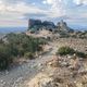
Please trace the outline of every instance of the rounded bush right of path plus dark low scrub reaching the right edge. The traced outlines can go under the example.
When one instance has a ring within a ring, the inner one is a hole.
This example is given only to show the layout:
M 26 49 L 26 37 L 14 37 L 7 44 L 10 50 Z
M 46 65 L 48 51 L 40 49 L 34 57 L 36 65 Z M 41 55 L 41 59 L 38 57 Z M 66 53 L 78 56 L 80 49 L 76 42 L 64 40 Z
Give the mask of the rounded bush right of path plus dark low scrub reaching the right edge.
M 76 54 L 77 57 L 79 58 L 86 58 L 87 54 L 85 54 L 84 52 L 79 52 L 79 51 L 76 51 L 74 50 L 73 48 L 70 48 L 70 47 L 61 47 L 59 48 L 57 54 L 60 54 L 60 55 L 66 55 L 66 54 Z

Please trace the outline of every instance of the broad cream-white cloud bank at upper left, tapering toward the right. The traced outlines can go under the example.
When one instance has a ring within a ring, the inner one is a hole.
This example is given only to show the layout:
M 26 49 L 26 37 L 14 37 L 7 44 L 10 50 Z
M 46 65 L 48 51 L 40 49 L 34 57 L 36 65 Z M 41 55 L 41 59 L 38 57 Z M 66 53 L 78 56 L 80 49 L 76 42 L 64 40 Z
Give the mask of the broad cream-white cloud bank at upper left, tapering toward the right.
M 25 2 L 16 2 L 15 4 L 7 4 L 0 0 L 0 18 L 23 18 L 26 13 L 44 13 L 46 11 L 39 9 L 34 4 L 27 4 Z

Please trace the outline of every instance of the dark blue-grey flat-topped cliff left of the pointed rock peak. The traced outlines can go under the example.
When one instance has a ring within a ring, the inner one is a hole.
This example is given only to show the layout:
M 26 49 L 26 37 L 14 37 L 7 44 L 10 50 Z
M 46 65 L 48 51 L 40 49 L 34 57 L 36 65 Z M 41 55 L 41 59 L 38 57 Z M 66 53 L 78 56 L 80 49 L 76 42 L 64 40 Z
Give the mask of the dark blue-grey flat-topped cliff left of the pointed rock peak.
M 36 30 L 39 30 L 42 27 L 45 27 L 46 29 L 52 30 L 55 27 L 55 25 L 54 25 L 53 22 L 49 22 L 49 21 L 41 22 L 41 20 L 29 18 L 29 21 L 28 21 L 28 29 L 34 28 Z

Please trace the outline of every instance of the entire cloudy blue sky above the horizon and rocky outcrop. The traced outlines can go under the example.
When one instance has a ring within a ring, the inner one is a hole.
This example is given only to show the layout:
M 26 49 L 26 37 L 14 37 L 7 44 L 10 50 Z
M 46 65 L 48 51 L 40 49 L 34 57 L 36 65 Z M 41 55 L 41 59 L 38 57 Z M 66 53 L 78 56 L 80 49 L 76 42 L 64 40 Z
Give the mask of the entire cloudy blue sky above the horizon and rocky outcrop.
M 0 0 L 0 26 L 27 26 L 28 18 L 87 26 L 87 0 Z

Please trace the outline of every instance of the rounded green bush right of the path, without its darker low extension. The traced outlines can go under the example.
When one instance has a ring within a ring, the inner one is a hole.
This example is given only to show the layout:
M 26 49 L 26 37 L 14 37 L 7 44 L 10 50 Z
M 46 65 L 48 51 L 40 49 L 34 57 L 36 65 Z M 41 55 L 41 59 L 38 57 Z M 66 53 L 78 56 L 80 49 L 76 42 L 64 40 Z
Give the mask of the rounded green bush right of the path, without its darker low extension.
M 66 54 L 73 54 L 74 52 L 75 52 L 74 49 L 70 47 L 61 47 L 59 48 L 57 54 L 66 55 Z

